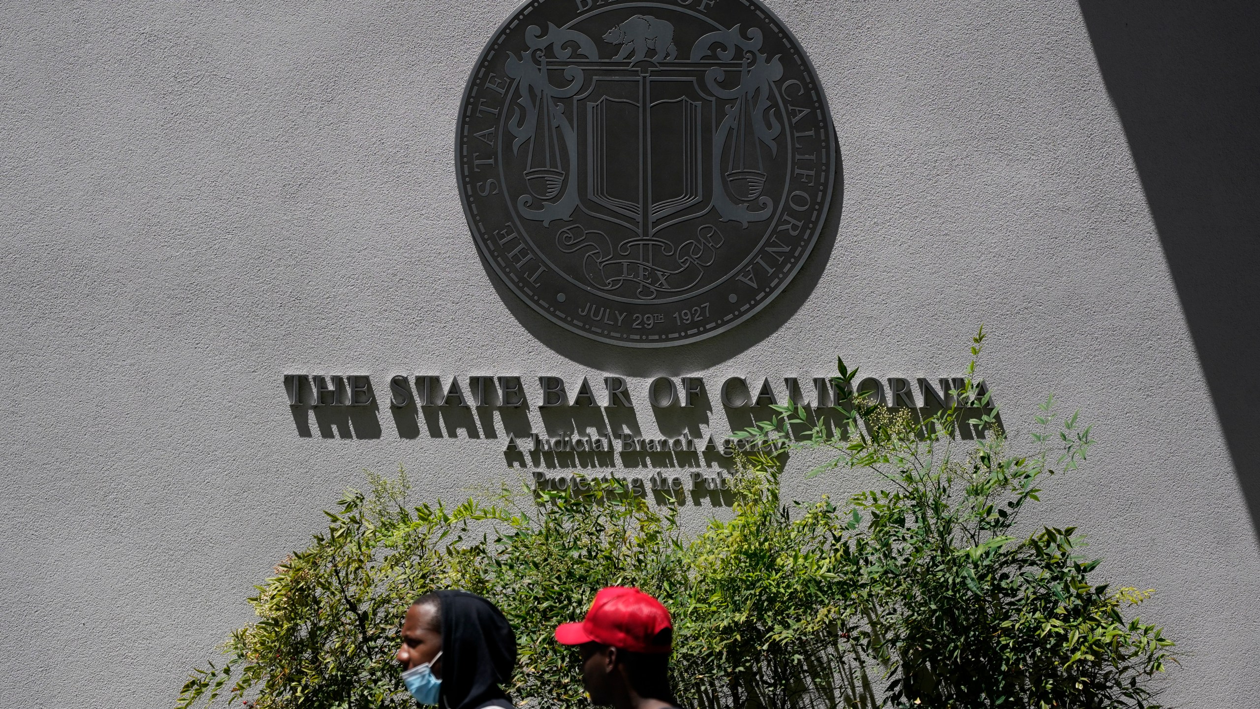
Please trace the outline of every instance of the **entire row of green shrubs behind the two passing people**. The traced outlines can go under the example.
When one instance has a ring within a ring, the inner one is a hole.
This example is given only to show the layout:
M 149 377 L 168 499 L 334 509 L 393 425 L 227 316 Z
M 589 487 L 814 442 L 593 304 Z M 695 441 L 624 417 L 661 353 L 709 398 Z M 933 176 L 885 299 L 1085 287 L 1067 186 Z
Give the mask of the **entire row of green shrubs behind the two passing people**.
M 976 336 L 969 372 L 984 339 Z M 178 706 L 412 706 L 393 652 L 415 597 L 457 587 L 493 599 L 517 628 L 520 704 L 587 705 L 577 653 L 552 640 L 604 585 L 638 585 L 675 621 L 683 706 L 1154 706 L 1171 659 L 1159 628 L 1126 619 L 1149 592 L 1089 582 L 1074 529 L 1017 539 L 1041 481 L 1089 450 L 1076 416 L 1031 448 L 1000 426 L 980 382 L 912 415 L 852 392 L 827 413 L 788 405 L 738 437 L 830 450 L 811 471 L 871 469 L 882 489 L 838 506 L 784 505 L 784 458 L 738 457 L 733 516 L 693 537 L 617 479 L 583 493 L 512 492 L 459 507 L 410 506 L 407 481 L 372 476 L 339 501 L 326 534 L 276 566 L 249 599 L 219 665 L 194 670 Z M 753 445 L 756 448 L 756 445 Z

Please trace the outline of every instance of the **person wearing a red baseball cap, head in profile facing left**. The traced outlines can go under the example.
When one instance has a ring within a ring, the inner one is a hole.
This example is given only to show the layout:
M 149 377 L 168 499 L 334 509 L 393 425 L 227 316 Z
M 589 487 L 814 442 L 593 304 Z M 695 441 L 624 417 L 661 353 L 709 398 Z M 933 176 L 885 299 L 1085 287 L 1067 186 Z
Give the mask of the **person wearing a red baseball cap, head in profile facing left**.
M 609 587 L 595 594 L 581 623 L 556 628 L 562 645 L 582 648 L 582 684 L 591 703 L 615 709 L 669 709 L 669 611 L 638 588 Z

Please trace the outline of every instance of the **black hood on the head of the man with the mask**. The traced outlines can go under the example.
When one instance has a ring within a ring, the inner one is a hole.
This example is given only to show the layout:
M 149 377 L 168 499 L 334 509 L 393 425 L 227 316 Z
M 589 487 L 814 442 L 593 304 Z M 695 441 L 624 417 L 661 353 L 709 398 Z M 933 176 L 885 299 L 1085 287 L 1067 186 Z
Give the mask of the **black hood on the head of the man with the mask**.
M 517 665 L 517 633 L 503 613 L 480 595 L 438 590 L 442 599 L 441 709 L 478 709 L 486 703 L 510 706 L 500 685 Z

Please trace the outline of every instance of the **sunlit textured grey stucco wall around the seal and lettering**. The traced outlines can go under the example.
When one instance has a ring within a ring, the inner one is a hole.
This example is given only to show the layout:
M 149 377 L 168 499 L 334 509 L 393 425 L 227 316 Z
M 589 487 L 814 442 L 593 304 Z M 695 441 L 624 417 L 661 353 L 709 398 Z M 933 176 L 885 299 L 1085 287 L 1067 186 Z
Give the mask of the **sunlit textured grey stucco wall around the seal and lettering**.
M 1167 699 L 1252 706 L 1255 487 L 1081 8 L 770 6 L 828 92 L 840 217 L 753 322 L 667 351 L 561 332 L 479 261 L 451 145 L 512 5 L 0 6 L 0 705 L 169 705 L 362 468 L 403 464 L 423 498 L 518 473 L 501 439 L 402 438 L 388 409 L 379 438 L 304 437 L 282 372 L 713 382 L 839 353 L 914 377 L 959 372 L 983 322 L 1008 421 L 1055 392 L 1095 424 L 1041 513 L 1158 589 L 1143 616 L 1188 653 Z

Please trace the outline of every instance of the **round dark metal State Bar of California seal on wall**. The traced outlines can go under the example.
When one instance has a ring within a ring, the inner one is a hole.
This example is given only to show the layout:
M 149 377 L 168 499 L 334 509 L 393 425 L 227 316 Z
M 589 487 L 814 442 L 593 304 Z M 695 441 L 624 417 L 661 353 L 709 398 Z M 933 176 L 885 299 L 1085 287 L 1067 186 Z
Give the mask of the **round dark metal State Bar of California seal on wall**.
M 800 270 L 834 141 L 809 58 L 757 0 L 533 0 L 481 52 L 455 155 L 517 295 L 665 347 L 737 325 Z

